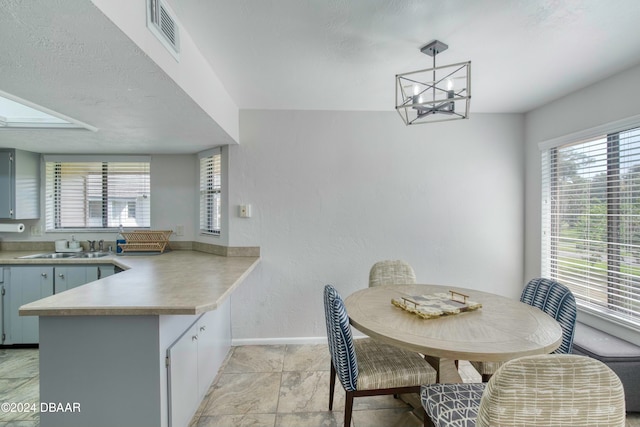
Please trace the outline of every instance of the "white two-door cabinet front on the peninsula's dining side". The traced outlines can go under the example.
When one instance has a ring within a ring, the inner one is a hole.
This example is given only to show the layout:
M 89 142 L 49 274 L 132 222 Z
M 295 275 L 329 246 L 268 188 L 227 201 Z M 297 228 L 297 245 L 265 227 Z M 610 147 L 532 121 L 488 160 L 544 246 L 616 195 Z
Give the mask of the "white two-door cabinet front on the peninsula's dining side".
M 201 315 L 167 350 L 169 426 L 187 427 L 229 350 L 225 310 Z

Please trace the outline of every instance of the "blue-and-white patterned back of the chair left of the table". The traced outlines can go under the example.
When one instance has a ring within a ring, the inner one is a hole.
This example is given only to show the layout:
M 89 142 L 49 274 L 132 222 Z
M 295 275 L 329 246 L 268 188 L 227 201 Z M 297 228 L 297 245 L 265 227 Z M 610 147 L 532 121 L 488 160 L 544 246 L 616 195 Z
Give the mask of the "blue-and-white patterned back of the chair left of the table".
M 342 297 L 331 285 L 324 287 L 324 311 L 329 352 L 336 374 L 346 391 L 356 391 L 358 360 L 353 345 L 349 316 Z

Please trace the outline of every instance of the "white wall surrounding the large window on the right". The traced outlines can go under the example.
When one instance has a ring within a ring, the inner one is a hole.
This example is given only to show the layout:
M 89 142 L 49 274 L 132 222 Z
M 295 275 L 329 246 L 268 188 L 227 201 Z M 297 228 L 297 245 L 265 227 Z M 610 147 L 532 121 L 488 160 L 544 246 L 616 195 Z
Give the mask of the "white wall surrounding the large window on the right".
M 526 115 L 525 280 L 540 276 L 540 151 L 538 143 L 640 114 L 640 66 Z M 579 320 L 640 344 L 640 335 L 579 313 Z

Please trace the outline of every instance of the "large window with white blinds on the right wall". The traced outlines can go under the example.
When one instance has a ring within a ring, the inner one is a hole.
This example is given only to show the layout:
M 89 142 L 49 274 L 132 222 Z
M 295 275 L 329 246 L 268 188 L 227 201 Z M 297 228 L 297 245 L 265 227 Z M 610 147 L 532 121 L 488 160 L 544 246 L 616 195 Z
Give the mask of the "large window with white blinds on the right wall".
M 542 153 L 542 273 L 640 327 L 640 128 Z

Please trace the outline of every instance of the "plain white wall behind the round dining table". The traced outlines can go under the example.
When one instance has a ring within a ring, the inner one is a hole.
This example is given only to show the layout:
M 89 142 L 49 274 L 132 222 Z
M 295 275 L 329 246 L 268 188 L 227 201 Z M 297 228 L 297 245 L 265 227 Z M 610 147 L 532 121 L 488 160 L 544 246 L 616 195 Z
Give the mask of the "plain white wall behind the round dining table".
M 324 336 L 324 285 L 347 296 L 381 259 L 519 296 L 522 115 L 405 127 L 394 112 L 243 110 L 240 129 L 229 244 L 260 246 L 262 262 L 232 296 L 236 342 Z

